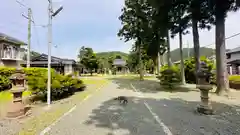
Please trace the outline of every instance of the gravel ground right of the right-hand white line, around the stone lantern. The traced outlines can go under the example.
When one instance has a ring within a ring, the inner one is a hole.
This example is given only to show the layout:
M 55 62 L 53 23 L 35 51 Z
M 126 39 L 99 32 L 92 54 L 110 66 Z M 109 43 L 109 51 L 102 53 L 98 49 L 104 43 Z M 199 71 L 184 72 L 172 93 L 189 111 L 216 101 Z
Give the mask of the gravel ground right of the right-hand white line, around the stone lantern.
M 195 85 L 186 85 L 178 92 L 155 91 L 157 82 L 133 82 L 143 92 L 144 99 L 174 135 L 239 135 L 240 92 L 231 90 L 229 97 L 210 93 L 214 115 L 196 113 L 200 92 Z M 151 84 L 151 85 L 148 85 Z M 141 85 L 141 87 L 139 87 Z M 158 86 L 159 87 L 159 86 Z M 148 89 L 148 91 L 144 91 Z M 152 90 L 152 91 L 151 91 Z M 192 91 L 189 91 L 192 90 Z

